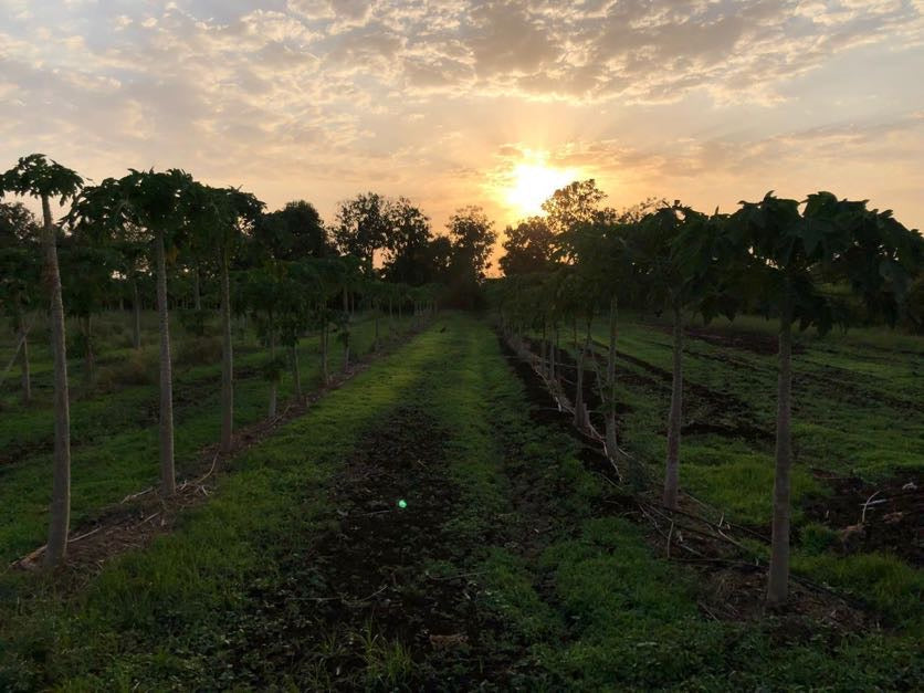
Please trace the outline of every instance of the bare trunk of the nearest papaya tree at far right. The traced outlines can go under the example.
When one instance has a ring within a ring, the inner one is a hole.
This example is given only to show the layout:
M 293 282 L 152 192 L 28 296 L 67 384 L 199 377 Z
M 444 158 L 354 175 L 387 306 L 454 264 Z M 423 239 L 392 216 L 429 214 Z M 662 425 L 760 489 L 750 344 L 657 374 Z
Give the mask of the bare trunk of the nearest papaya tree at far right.
M 777 381 L 776 471 L 774 518 L 767 601 L 781 605 L 789 596 L 789 474 L 792 468 L 792 324 L 784 311 L 779 325 L 779 376 Z

